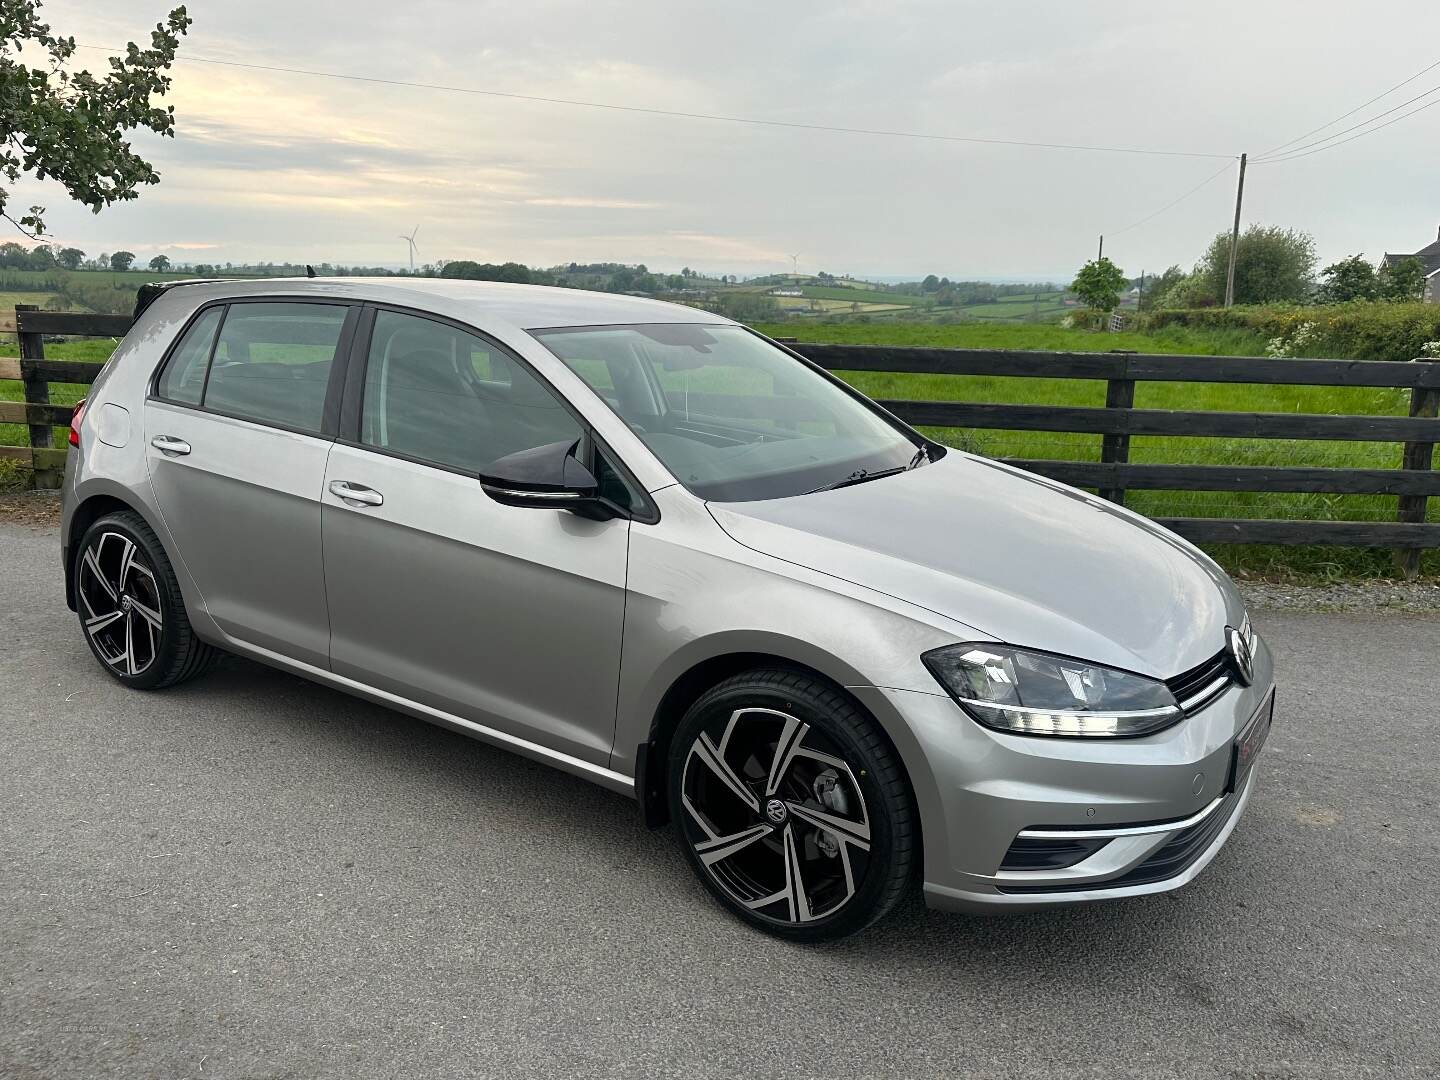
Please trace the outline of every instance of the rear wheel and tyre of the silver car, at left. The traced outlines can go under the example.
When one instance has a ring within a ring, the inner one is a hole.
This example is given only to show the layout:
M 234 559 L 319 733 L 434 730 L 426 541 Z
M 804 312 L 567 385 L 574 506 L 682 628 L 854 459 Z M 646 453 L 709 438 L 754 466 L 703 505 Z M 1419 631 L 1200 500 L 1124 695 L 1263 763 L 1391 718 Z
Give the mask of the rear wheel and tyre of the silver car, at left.
M 75 608 L 91 652 L 117 680 L 158 690 L 199 675 L 219 649 L 200 641 L 170 560 L 132 511 L 92 524 L 75 553 Z

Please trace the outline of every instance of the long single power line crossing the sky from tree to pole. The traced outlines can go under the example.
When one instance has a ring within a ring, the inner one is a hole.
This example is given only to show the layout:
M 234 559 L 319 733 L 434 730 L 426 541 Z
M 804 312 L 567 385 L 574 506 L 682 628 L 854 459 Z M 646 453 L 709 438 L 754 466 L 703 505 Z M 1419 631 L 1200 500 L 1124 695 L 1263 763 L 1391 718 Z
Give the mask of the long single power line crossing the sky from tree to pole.
M 124 49 L 112 49 L 104 45 L 79 45 L 81 49 L 95 49 L 112 56 L 122 55 Z M 1188 150 L 1146 150 L 1142 147 L 1102 147 L 1081 145 L 1076 143 L 1032 143 L 1020 138 L 982 138 L 978 135 L 937 135 L 924 131 L 890 131 L 884 128 L 850 128 L 832 124 L 806 124 L 788 120 L 762 120 L 759 117 L 729 117 L 714 112 L 681 112 L 678 109 L 657 109 L 642 105 L 613 105 L 600 101 L 577 101 L 575 98 L 546 98 L 537 94 L 514 94 L 510 91 L 478 89 L 474 86 L 446 86 L 435 82 L 410 82 L 406 79 L 383 79 L 373 75 L 348 75 L 344 72 L 315 71 L 312 68 L 282 68 L 269 63 L 242 63 L 239 60 L 216 60 L 204 56 L 177 56 L 176 60 L 186 63 L 210 63 L 220 68 L 245 68 L 248 71 L 281 72 L 285 75 L 308 75 L 317 79 L 343 79 L 346 82 L 369 82 L 380 86 L 406 86 L 409 89 L 444 91 L 446 94 L 472 94 L 485 98 L 504 98 L 510 101 L 534 101 L 544 105 L 570 105 L 576 108 L 606 109 L 611 112 L 639 112 L 648 117 L 672 117 L 677 120 L 708 120 L 723 124 L 752 124 L 757 127 L 791 128 L 799 131 L 825 131 L 838 135 L 873 135 L 883 138 L 919 138 L 935 143 L 976 143 L 1001 147 L 1030 147 L 1034 150 L 1083 150 L 1100 154 L 1145 154 L 1151 157 L 1210 157 L 1233 158 L 1234 154 L 1202 154 Z

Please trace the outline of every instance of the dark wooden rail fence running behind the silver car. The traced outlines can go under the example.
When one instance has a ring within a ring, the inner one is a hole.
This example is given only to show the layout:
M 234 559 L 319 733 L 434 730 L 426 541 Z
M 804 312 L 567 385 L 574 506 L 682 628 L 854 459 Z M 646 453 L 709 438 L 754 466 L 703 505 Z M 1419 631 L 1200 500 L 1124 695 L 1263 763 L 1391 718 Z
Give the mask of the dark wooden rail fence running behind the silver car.
M 32 464 L 37 487 L 55 487 L 65 467 L 65 448 L 53 448 L 52 425 L 69 423 L 69 408 L 49 403 L 49 383 L 89 383 L 98 364 L 46 360 L 46 336 L 121 337 L 127 315 L 16 308 L 20 360 L 0 359 L 0 379 L 20 379 L 24 402 L 0 402 L 0 422 L 26 423 L 30 446 L 0 446 L 0 456 Z M 1129 490 L 1290 491 L 1345 495 L 1397 495 L 1394 521 L 1310 521 L 1233 517 L 1159 518 L 1197 543 L 1339 544 L 1388 547 L 1400 569 L 1414 575 L 1420 552 L 1440 547 L 1440 524 L 1426 523 L 1426 503 L 1440 495 L 1433 469 L 1440 441 L 1440 363 L 1362 360 L 1290 360 L 1269 357 L 1143 356 L 1130 353 L 1014 353 L 976 348 L 900 348 L 789 343 L 815 363 L 835 372 L 913 374 L 984 374 L 1035 379 L 1089 379 L 1106 383 L 1103 408 L 991 405 L 971 402 L 884 400 L 909 423 L 930 428 L 1080 432 L 1100 436 L 1100 461 L 1008 459 L 1066 484 L 1093 488 L 1113 503 Z M 1408 416 L 1331 416 L 1220 410 L 1136 409 L 1139 382 L 1261 383 L 1284 386 L 1364 386 L 1410 390 Z M 691 395 L 698 408 L 700 395 Z M 768 408 L 802 419 L 802 400 L 766 399 Z M 1397 442 L 1394 469 L 1320 468 L 1296 464 L 1166 465 L 1132 464 L 1130 436 L 1318 439 Z

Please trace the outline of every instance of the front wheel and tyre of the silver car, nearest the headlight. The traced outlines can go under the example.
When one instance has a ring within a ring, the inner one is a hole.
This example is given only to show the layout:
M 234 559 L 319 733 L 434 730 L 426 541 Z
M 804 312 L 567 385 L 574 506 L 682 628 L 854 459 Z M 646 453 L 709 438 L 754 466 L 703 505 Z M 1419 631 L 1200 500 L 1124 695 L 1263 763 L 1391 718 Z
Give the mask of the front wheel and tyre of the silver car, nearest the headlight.
M 827 683 L 775 670 L 713 687 L 675 730 L 668 780 L 700 880 L 772 935 L 855 933 L 913 881 L 904 772 L 874 720 Z

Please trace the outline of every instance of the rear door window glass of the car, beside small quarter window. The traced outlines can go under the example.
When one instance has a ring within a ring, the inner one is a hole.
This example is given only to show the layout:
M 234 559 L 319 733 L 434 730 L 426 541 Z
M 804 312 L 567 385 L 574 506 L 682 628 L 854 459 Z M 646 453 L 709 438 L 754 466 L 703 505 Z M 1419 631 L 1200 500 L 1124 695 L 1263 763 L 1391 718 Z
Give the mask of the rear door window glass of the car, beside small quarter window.
M 232 304 L 202 405 L 318 432 L 347 312 L 331 304 Z

